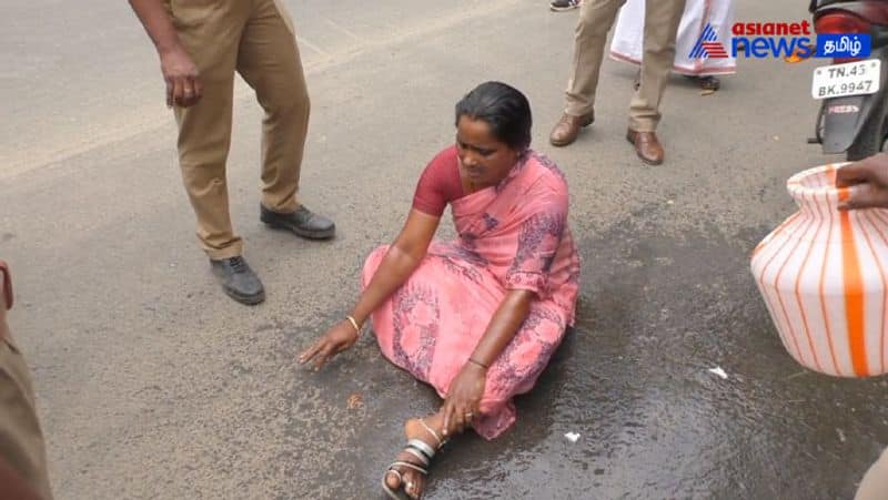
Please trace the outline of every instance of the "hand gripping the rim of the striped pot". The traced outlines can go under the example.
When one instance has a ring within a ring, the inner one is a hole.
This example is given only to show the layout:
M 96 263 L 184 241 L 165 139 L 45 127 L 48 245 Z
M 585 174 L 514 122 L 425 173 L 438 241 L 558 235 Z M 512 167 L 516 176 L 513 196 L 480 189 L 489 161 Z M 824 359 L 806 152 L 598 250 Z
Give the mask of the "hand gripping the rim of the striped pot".
M 879 153 L 836 171 L 836 187 L 850 187 L 839 210 L 888 208 L 888 153 Z

